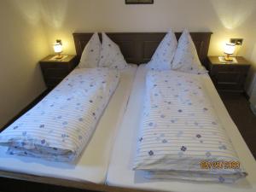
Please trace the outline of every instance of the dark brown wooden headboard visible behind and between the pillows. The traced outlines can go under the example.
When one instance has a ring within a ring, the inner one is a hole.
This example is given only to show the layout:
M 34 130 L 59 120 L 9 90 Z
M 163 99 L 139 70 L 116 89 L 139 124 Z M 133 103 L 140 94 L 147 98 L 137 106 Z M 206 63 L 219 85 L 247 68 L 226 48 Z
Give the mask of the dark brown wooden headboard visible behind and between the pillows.
M 128 63 L 140 64 L 150 61 L 154 50 L 160 44 L 166 32 L 108 32 L 107 34 L 113 42 L 119 45 Z M 181 32 L 176 32 L 175 35 L 178 39 L 181 36 Z M 201 63 L 206 65 L 212 32 L 190 32 L 190 35 L 195 43 Z M 84 46 L 91 36 L 92 33 L 73 33 L 79 60 Z M 99 36 L 102 39 L 101 33 L 99 33 Z

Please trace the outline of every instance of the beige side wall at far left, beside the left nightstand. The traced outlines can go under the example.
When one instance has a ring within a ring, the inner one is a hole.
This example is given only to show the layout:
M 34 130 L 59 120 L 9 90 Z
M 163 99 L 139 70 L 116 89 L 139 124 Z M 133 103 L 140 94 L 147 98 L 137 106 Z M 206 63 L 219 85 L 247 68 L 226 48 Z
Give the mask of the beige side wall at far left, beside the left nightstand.
M 22 2 L 0 3 L 0 127 L 45 89 L 38 61 L 48 42 L 37 4 Z

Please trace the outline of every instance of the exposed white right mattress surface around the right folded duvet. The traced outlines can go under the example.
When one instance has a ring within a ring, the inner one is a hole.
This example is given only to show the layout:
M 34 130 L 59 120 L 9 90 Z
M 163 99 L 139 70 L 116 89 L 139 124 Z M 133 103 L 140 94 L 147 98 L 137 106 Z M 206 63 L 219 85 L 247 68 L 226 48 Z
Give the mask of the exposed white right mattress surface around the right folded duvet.
M 107 183 L 111 186 L 117 186 L 130 189 L 147 189 L 157 191 L 256 191 L 256 162 L 247 148 L 247 144 L 241 137 L 236 125 L 230 118 L 229 113 L 224 107 L 224 103 L 218 96 L 217 90 L 212 84 L 212 80 L 207 74 L 202 75 L 202 81 L 207 88 L 213 108 L 218 114 L 221 124 L 230 137 L 230 140 L 236 149 L 241 165 L 248 172 L 245 179 L 241 179 L 237 183 L 196 183 L 181 180 L 148 180 L 144 177 L 144 173 L 133 171 L 133 160 L 136 154 L 137 133 L 140 124 L 145 93 L 145 75 L 147 69 L 141 65 L 137 70 L 137 76 L 131 91 L 130 102 L 127 106 L 123 122 L 117 133 L 116 141 L 113 144 L 113 153 L 108 166 Z

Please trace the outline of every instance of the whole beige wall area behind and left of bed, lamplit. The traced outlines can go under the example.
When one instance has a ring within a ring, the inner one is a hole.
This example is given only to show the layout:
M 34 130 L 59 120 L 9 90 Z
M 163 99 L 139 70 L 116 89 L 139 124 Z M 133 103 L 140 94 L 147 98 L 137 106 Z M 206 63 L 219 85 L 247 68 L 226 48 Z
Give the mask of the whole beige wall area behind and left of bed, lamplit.
M 62 39 L 64 53 L 75 53 L 73 32 L 166 32 L 170 27 L 179 32 L 186 27 L 191 32 L 213 32 L 209 55 L 223 55 L 223 44 L 229 38 L 244 38 L 238 55 L 254 58 L 255 0 L 155 0 L 153 5 L 124 2 L 1 1 L 0 125 L 45 89 L 37 62 L 52 51 L 56 38 Z M 253 63 L 256 68 L 256 61 Z

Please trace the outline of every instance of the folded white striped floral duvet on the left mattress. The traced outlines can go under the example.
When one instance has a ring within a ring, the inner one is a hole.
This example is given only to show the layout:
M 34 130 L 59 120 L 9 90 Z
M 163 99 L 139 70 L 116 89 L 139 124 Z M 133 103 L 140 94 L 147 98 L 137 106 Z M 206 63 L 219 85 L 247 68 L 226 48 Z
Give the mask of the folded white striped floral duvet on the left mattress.
M 0 145 L 8 146 L 9 154 L 76 160 L 89 143 L 118 83 L 116 70 L 73 70 L 48 96 L 0 134 Z

